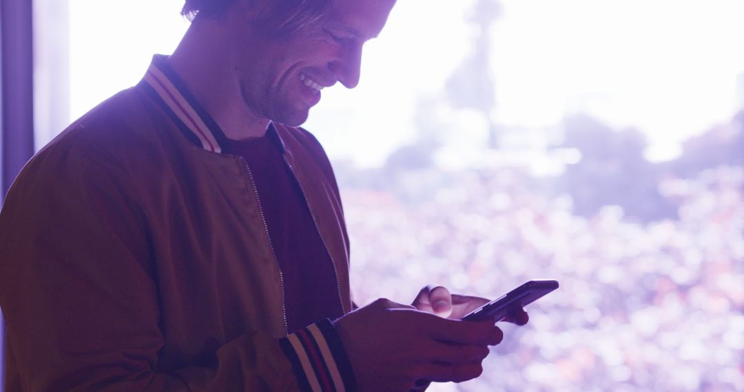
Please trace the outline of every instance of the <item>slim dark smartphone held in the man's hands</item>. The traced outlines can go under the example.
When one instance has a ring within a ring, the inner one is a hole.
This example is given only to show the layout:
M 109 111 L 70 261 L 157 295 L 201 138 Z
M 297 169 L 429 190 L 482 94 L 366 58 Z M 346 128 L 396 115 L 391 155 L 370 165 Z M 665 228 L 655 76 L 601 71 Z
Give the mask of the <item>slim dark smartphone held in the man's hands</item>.
M 462 319 L 465 321 L 482 321 L 495 319 L 497 322 L 507 318 L 509 311 L 514 307 L 525 307 L 536 301 L 542 295 L 548 294 L 558 288 L 558 281 L 539 280 L 528 281 L 522 286 L 501 295 L 476 310 L 466 314 Z

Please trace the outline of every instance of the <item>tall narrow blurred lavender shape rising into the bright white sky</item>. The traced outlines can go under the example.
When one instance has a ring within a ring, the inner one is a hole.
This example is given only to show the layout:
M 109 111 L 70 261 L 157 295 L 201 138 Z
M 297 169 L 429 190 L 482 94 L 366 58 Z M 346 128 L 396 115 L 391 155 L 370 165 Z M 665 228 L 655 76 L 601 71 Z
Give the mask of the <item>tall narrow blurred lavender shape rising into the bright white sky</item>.
M 467 56 L 446 82 L 449 100 L 459 108 L 480 111 L 489 125 L 489 147 L 498 146 L 498 126 L 491 120 L 496 107 L 496 87 L 490 73 L 490 31 L 498 16 L 501 3 L 498 0 L 478 0 L 470 21 L 478 31 L 473 53 Z

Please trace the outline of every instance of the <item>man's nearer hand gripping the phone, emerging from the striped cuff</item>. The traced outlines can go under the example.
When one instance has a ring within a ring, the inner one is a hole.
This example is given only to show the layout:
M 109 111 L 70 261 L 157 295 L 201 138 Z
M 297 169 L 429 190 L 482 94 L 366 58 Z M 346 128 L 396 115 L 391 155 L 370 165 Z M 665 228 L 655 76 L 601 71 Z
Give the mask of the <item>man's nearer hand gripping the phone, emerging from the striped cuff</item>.
M 503 333 L 493 321 L 443 319 L 378 299 L 334 321 L 359 391 L 408 391 L 415 382 L 461 382 L 481 374 L 489 345 Z

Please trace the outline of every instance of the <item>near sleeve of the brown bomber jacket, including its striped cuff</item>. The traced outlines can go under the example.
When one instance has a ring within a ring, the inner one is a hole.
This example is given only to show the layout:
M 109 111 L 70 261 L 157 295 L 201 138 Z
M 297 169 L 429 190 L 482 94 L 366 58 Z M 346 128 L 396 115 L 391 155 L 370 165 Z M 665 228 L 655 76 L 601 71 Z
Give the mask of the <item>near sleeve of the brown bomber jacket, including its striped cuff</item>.
M 106 163 L 61 155 L 32 160 L 0 213 L 7 391 L 353 389 L 327 320 L 283 339 L 246 333 L 217 349 L 216 366 L 161 372 L 166 342 L 141 212 Z

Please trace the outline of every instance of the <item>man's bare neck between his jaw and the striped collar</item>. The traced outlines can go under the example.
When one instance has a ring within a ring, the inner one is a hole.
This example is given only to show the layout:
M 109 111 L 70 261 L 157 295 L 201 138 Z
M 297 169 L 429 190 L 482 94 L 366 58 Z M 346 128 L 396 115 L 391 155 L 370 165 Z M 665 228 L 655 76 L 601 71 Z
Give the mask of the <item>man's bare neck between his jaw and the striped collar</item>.
M 246 105 L 219 23 L 194 21 L 168 63 L 228 139 L 261 137 L 269 120 Z

